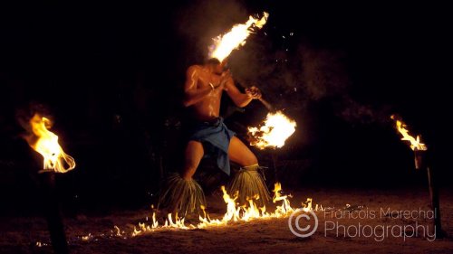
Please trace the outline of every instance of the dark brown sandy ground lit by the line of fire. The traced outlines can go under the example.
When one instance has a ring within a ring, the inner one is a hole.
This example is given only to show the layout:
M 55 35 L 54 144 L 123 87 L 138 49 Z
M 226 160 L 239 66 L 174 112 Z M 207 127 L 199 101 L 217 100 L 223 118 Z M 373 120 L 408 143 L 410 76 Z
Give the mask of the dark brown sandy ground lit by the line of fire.
M 240 221 L 207 229 L 156 230 L 136 237 L 130 236 L 134 225 L 146 221 L 150 211 L 113 212 L 101 217 L 79 215 L 65 219 L 65 224 L 72 253 L 453 253 L 450 193 L 441 190 L 440 200 L 442 226 L 448 237 L 433 241 L 425 189 L 294 192 L 293 207 L 301 207 L 306 197 L 312 197 L 313 204 L 323 204 L 327 209 L 315 212 L 319 226 L 306 238 L 296 237 L 289 230 L 288 218 Z M 208 202 L 211 217 L 221 217 L 225 204 L 219 193 L 209 196 Z M 52 253 L 43 219 L 2 218 L 0 222 L 0 253 Z M 300 222 L 301 227 L 313 226 L 313 220 Z M 114 236 L 115 225 L 124 231 L 121 237 Z M 89 233 L 92 235 L 88 240 L 82 240 Z M 38 247 L 37 242 L 42 246 Z

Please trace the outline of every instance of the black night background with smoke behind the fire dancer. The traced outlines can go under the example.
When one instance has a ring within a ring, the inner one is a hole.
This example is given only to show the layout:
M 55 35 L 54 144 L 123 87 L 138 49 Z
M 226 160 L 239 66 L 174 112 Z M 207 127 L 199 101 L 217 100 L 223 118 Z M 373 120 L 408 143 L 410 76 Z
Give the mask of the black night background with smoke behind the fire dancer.
M 161 177 L 182 158 L 186 69 L 205 59 L 211 38 L 262 11 L 268 23 L 229 65 L 239 87 L 256 83 L 298 124 L 284 148 L 254 148 L 270 167 L 269 181 L 274 154 L 290 188 L 424 187 L 425 173 L 414 170 L 390 120 L 398 114 L 410 133 L 422 134 L 439 184 L 449 186 L 445 5 L 43 1 L 0 8 L 1 212 L 39 204 L 40 165 L 15 119 L 32 101 L 51 110 L 53 132 L 76 159 L 76 169 L 58 179 L 69 211 L 155 202 Z M 222 112 L 241 137 L 266 114 L 259 102 L 241 111 L 227 98 Z

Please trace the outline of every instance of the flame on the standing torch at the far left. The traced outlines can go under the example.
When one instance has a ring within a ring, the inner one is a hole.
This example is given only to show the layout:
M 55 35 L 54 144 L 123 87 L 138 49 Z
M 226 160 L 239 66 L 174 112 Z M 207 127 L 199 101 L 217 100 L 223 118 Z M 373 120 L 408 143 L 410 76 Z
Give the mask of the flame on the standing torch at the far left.
M 30 119 L 32 134 L 25 139 L 34 151 L 43 155 L 43 170 L 40 172 L 66 173 L 75 167 L 75 161 L 66 155 L 62 146 L 58 144 L 58 136 L 49 131 L 51 120 L 35 114 Z M 65 167 L 67 166 L 67 167 Z

